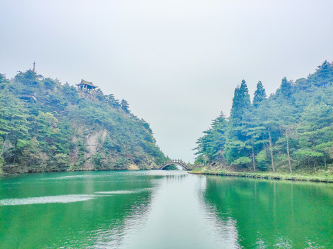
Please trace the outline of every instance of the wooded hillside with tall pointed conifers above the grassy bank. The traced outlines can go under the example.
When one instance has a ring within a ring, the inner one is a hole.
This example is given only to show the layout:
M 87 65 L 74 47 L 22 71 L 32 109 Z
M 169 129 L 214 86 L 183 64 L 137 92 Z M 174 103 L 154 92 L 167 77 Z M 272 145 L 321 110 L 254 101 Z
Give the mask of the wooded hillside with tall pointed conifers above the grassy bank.
M 268 98 L 258 82 L 253 102 L 245 80 L 223 113 L 198 139 L 196 163 L 241 171 L 310 171 L 332 167 L 333 64 L 293 82 L 282 79 Z

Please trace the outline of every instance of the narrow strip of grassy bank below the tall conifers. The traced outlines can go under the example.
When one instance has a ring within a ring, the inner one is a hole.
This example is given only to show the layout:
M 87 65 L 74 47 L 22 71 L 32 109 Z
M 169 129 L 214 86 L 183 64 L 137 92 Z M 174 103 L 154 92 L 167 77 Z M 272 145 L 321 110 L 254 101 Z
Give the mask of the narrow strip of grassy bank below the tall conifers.
M 320 175 L 299 175 L 299 174 L 284 174 L 284 173 L 273 173 L 273 172 L 228 172 L 225 170 L 210 170 L 210 169 L 194 169 L 191 174 L 207 174 L 216 176 L 238 176 L 248 178 L 261 178 L 261 179 L 272 179 L 272 180 L 289 180 L 289 181 L 313 181 L 321 183 L 333 183 L 333 176 L 320 176 Z

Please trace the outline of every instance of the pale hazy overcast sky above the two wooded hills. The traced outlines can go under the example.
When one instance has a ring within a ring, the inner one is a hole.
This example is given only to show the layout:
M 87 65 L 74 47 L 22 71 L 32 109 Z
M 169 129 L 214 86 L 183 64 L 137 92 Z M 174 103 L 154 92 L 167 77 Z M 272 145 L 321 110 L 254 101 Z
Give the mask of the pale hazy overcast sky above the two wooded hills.
M 173 159 L 194 161 L 196 140 L 246 80 L 314 73 L 333 61 L 332 0 L 1 0 L 0 73 L 93 82 L 151 124 Z

